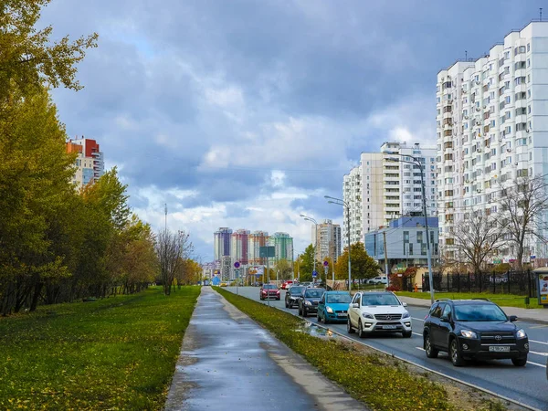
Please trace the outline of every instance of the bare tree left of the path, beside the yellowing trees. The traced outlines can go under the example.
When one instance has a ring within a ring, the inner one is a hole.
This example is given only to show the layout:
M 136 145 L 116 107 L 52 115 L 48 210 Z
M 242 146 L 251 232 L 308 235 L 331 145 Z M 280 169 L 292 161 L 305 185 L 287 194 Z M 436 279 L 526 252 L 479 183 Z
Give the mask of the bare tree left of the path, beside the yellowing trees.
M 156 242 L 156 253 L 160 262 L 160 276 L 163 284 L 163 293 L 170 295 L 174 278 L 181 272 L 181 265 L 188 258 L 194 246 L 190 236 L 184 231 L 172 233 L 169 230 L 161 231 Z

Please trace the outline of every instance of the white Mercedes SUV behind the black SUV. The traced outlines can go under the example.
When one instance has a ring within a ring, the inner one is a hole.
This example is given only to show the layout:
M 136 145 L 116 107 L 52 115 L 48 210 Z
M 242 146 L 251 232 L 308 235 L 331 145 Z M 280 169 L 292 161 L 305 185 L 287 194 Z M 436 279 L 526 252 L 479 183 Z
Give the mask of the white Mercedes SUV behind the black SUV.
M 374 332 L 401 332 L 410 338 L 411 316 L 406 306 L 394 292 L 357 292 L 348 306 L 346 330 L 357 331 L 360 338 Z

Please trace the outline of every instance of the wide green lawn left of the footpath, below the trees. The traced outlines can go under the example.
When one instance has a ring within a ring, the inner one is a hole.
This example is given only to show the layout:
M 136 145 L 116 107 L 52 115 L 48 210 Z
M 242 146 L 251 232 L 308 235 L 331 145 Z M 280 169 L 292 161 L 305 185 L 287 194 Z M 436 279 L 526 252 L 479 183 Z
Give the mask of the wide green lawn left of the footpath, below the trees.
M 199 291 L 0 318 L 0 409 L 162 409 Z

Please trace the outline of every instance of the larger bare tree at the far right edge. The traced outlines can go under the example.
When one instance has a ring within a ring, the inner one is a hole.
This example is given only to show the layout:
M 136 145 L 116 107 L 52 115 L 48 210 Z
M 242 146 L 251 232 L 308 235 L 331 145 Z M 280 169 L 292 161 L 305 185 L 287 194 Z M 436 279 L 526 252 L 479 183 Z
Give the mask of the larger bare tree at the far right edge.
M 546 242 L 548 197 L 542 175 L 517 177 L 511 187 L 501 189 L 501 227 L 515 247 L 518 269 L 523 268 L 526 244 L 534 239 Z

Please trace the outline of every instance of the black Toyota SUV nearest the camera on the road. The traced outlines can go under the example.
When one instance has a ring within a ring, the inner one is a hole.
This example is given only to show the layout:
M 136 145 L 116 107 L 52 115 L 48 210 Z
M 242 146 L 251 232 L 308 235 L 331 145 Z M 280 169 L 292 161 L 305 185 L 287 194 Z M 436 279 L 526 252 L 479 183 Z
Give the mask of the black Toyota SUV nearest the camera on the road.
M 425 318 L 424 349 L 428 358 L 448 353 L 455 366 L 469 359 L 511 359 L 523 366 L 529 339 L 516 320 L 490 300 L 437 300 Z

